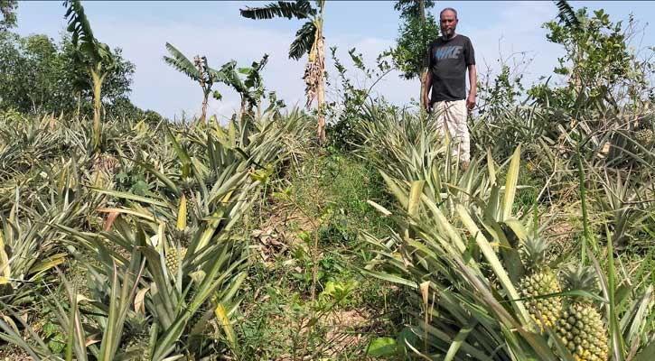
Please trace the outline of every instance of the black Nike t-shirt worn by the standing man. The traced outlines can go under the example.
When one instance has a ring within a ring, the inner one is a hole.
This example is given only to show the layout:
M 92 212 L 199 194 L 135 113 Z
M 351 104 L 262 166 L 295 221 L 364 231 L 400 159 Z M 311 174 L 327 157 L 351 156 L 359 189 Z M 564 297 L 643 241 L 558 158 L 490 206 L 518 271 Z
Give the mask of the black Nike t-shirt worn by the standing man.
M 437 39 L 429 46 L 427 67 L 432 71 L 431 101 L 466 98 L 466 69 L 475 64 L 473 44 L 457 34 L 450 40 Z

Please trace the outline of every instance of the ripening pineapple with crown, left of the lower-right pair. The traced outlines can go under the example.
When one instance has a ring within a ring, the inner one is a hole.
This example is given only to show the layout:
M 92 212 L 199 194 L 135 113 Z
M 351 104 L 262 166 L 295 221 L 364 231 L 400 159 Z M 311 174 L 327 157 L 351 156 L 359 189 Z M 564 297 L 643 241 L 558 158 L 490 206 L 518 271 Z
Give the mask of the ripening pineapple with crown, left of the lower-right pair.
M 519 281 L 521 298 L 526 298 L 526 308 L 540 329 L 553 327 L 562 310 L 562 298 L 558 296 L 535 297 L 562 292 L 557 273 L 547 264 L 547 243 L 541 237 L 528 237 L 523 246 L 528 273 Z

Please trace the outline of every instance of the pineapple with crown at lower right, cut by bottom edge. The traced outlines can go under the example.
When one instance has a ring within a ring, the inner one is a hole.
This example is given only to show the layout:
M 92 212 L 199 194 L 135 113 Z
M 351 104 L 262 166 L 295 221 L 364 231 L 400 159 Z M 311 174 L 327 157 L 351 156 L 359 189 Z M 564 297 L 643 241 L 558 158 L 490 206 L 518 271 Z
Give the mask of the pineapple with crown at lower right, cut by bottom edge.
M 589 267 L 572 267 L 566 271 L 570 290 L 595 289 L 594 270 Z M 573 296 L 557 319 L 557 336 L 576 361 L 607 360 L 607 329 L 594 304 L 581 296 Z

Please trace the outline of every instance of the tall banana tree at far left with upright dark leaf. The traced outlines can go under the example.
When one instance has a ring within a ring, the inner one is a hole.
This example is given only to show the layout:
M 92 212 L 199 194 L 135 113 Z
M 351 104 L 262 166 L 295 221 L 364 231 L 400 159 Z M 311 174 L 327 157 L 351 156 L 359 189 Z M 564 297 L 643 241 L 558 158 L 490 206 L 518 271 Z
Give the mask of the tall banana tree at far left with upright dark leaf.
M 66 30 L 71 33 L 70 41 L 76 49 L 74 60 L 85 66 L 93 81 L 92 147 L 98 151 L 101 133 L 102 82 L 116 65 L 116 60 L 108 45 L 98 42 L 98 39 L 93 36 L 91 25 L 87 15 L 84 14 L 84 7 L 80 4 L 80 0 L 65 0 L 63 6 L 67 9 L 64 15 L 68 19 Z

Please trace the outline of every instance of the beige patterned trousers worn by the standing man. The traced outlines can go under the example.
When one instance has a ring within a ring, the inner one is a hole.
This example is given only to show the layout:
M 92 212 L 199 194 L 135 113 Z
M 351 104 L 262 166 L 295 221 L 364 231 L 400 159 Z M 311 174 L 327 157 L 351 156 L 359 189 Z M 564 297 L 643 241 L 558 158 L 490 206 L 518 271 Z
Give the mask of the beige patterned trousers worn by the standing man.
M 460 161 L 471 162 L 471 137 L 466 124 L 468 112 L 465 100 L 440 101 L 433 105 L 437 131 L 444 136 L 448 130 L 451 138 L 451 151 L 458 155 Z

